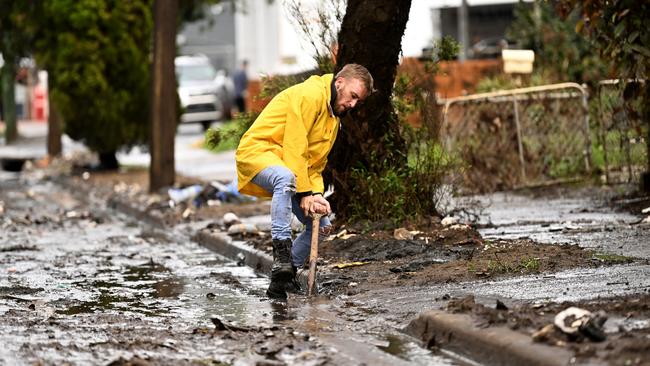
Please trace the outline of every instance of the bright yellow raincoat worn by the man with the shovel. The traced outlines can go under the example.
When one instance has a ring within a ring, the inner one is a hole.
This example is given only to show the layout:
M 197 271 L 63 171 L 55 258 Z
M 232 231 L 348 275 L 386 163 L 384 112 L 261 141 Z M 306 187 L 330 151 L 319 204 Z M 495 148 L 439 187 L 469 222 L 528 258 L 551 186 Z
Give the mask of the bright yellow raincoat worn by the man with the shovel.
M 270 166 L 284 166 L 296 176 L 296 192 L 324 191 L 322 172 L 339 121 L 330 107 L 332 74 L 312 76 L 280 94 L 264 108 L 237 147 L 241 193 L 271 197 L 251 182 Z

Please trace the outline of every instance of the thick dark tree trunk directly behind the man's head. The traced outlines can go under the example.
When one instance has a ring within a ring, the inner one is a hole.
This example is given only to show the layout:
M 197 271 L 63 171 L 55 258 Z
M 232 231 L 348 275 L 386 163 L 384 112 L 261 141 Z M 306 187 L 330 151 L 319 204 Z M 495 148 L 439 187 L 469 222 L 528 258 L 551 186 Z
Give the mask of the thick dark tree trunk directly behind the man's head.
M 375 92 L 342 119 L 329 157 L 325 179 L 334 185 L 336 193 L 331 201 L 337 217 L 347 217 L 347 204 L 354 198 L 352 167 L 360 165 L 379 172 L 386 166 L 406 165 L 404 140 L 391 98 L 410 8 L 410 0 L 348 0 L 338 36 L 335 73 L 345 64 L 361 64 L 372 74 Z

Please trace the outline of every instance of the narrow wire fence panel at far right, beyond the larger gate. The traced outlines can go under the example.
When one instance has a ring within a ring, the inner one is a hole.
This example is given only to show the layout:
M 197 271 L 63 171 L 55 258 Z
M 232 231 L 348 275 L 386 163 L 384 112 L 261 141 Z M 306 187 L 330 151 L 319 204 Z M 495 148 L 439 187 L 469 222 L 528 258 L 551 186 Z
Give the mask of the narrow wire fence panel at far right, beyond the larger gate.
M 603 80 L 598 84 L 595 115 L 598 135 L 594 161 L 607 183 L 637 183 L 647 166 L 647 127 L 641 117 L 642 80 Z

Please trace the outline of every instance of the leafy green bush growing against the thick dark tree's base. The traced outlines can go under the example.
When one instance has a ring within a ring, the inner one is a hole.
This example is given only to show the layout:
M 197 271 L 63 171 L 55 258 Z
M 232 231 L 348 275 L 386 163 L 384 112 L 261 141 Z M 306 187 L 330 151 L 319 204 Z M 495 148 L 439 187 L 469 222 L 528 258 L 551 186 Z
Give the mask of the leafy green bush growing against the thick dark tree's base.
M 369 171 L 352 168 L 355 194 L 349 203 L 349 221 L 389 219 L 394 226 L 439 214 L 439 200 L 454 179 L 461 162 L 449 155 L 439 141 L 440 113 L 435 101 L 433 74 L 437 61 L 450 59 L 458 45 L 445 38 L 434 45 L 432 60 L 418 75 L 399 74 L 393 89 L 393 107 L 400 119 L 399 133 L 407 146 L 406 166 L 391 166 L 371 157 Z M 413 126 L 409 121 L 415 117 Z M 391 140 L 388 138 L 388 140 Z M 454 191 L 454 188 L 451 188 Z

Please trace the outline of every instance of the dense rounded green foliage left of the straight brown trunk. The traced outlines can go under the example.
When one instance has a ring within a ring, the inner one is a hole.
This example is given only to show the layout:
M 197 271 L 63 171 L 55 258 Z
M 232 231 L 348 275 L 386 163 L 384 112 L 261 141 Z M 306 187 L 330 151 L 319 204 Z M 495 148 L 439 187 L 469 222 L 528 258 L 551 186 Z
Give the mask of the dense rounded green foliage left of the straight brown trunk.
M 43 3 L 37 58 L 65 133 L 100 153 L 146 143 L 151 0 Z M 52 31 L 56 30 L 56 31 Z

